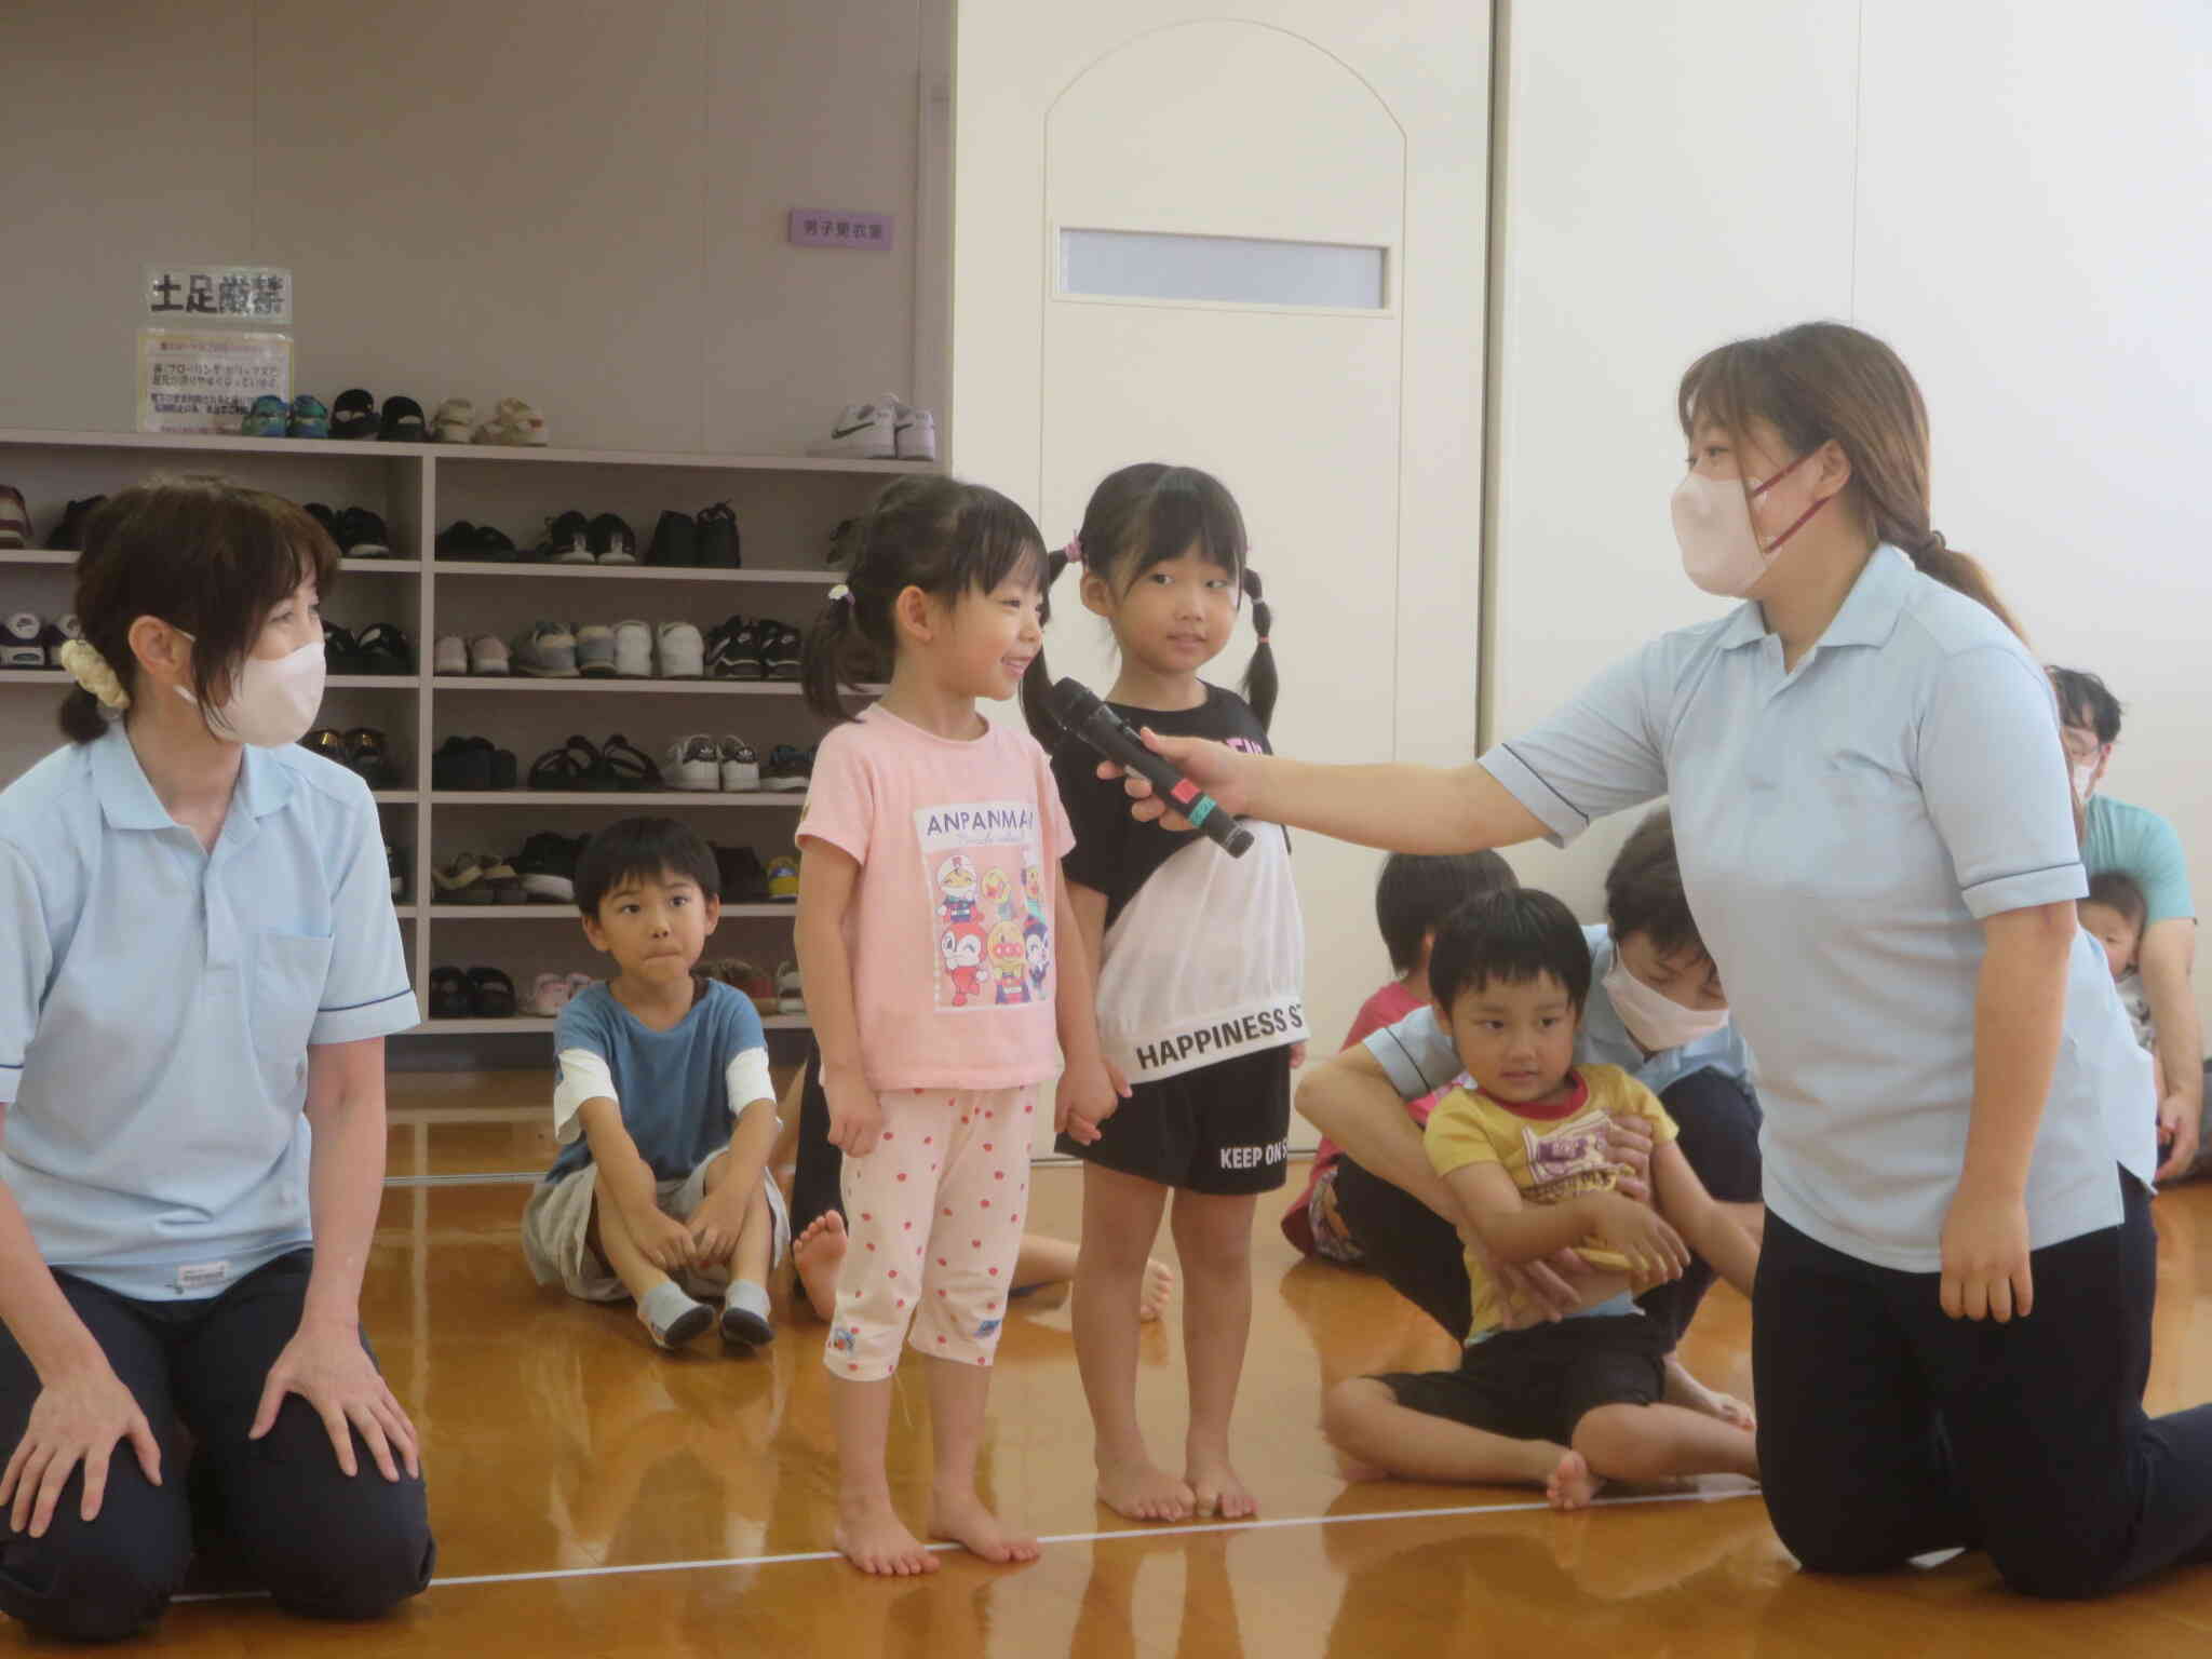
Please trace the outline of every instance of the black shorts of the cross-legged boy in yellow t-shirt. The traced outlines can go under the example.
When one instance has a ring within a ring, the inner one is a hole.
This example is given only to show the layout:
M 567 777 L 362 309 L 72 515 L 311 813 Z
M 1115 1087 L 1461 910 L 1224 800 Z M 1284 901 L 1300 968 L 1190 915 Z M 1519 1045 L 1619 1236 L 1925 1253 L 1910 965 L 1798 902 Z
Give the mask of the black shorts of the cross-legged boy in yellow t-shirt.
M 1398 1405 L 1513 1440 L 1571 1444 L 1584 1411 L 1657 1405 L 1672 1336 L 1644 1314 L 1593 1314 L 1498 1332 L 1458 1371 L 1389 1371 Z

